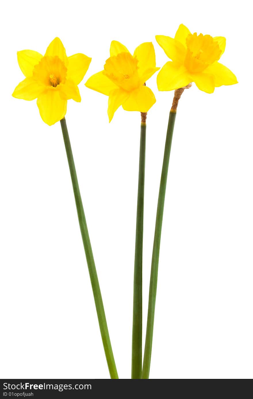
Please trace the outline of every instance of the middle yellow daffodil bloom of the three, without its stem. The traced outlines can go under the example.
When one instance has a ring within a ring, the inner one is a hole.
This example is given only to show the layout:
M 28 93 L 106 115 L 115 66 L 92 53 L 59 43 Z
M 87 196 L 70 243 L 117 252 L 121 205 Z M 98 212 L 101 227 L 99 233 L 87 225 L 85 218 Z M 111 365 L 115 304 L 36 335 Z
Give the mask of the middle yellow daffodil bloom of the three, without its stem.
M 155 96 L 143 84 L 158 69 L 152 43 L 140 44 L 131 55 L 123 44 L 113 40 L 104 70 L 92 75 L 85 85 L 109 96 L 108 117 L 111 122 L 120 105 L 126 111 L 140 112 L 147 112 L 152 107 Z

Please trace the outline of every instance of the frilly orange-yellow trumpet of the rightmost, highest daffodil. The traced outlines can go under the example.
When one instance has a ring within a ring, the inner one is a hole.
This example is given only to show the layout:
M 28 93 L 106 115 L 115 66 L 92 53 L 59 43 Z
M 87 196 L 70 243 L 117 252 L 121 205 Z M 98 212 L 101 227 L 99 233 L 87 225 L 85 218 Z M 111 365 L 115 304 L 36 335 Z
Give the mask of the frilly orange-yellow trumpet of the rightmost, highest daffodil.
M 218 42 L 209 35 L 189 34 L 186 38 L 186 45 L 185 67 L 190 72 L 203 71 L 221 56 Z

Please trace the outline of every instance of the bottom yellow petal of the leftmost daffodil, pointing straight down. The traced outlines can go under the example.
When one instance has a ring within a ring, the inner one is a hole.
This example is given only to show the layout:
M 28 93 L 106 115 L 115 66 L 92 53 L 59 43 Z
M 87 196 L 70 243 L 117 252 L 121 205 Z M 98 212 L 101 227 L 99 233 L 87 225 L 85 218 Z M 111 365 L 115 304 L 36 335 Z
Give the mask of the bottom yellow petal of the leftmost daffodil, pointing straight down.
M 60 91 L 50 87 L 42 93 L 37 100 L 42 120 L 48 125 L 52 125 L 61 120 L 67 111 L 67 100 L 60 97 Z

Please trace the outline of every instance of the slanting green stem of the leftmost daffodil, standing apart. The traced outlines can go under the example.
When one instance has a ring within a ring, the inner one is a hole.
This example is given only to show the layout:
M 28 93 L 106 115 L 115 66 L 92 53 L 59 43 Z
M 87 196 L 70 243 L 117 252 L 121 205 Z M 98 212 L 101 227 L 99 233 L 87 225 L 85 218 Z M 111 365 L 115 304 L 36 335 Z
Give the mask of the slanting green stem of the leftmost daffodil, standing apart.
M 76 201 L 78 220 L 79 220 L 80 230 L 81 230 L 81 234 L 82 234 L 82 240 L 84 243 L 84 251 L 85 251 L 87 265 L 88 265 L 88 269 L 89 269 L 89 273 L 90 273 L 90 281 L 92 284 L 92 291 L 93 291 L 94 301 L 95 301 L 97 315 L 98 315 L 98 322 L 99 322 L 102 342 L 103 342 L 104 351 L 106 354 L 106 360 L 107 360 L 111 378 L 118 379 L 118 373 L 117 373 L 117 369 L 116 369 L 116 365 L 115 365 L 115 361 L 114 361 L 114 355 L 112 353 L 112 346 L 111 346 L 108 327 L 107 327 L 107 323 L 106 323 L 106 315 L 105 315 L 104 305 L 103 305 L 102 296 L 101 296 L 101 292 L 100 292 L 98 275 L 96 272 L 96 266 L 95 266 L 94 258 L 93 258 L 93 254 L 92 254 L 92 247 L 90 244 L 90 237 L 89 237 L 86 219 L 85 219 L 85 215 L 84 215 L 84 208 L 83 208 L 83 204 L 82 204 L 82 198 L 80 195 L 78 180 L 77 180 L 77 176 L 76 176 L 76 168 L 75 168 L 75 164 L 74 164 L 72 149 L 71 149 L 71 145 L 70 145 L 70 138 L 68 135 L 68 129 L 67 129 L 65 118 L 63 118 L 60 122 L 61 122 L 61 126 L 62 126 L 62 134 L 63 134 L 64 144 L 65 144 L 65 148 L 66 148 L 68 164 L 70 167 L 70 175 L 71 175 L 74 196 L 75 196 L 75 201 Z

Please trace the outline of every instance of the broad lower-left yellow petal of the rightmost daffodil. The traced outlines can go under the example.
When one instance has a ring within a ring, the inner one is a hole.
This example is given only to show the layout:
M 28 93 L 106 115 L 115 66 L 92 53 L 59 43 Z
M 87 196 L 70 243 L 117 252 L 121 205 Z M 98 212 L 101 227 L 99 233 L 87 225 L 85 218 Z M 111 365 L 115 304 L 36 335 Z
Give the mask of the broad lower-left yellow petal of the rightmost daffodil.
M 191 82 L 191 77 L 184 66 L 178 66 L 172 61 L 163 65 L 157 75 L 157 87 L 159 91 L 169 91 L 184 87 Z

